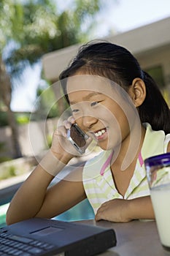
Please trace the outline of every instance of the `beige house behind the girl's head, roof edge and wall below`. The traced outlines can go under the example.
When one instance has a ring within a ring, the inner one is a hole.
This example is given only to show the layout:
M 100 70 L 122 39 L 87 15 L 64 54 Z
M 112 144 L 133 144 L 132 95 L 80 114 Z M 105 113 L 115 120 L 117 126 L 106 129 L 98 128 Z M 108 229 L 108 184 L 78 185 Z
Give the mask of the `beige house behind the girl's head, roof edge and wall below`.
M 166 88 L 170 87 L 170 17 L 104 39 L 122 45 L 136 56 L 143 69 L 161 66 Z M 80 45 L 56 50 L 42 58 L 45 77 L 52 83 L 76 55 Z

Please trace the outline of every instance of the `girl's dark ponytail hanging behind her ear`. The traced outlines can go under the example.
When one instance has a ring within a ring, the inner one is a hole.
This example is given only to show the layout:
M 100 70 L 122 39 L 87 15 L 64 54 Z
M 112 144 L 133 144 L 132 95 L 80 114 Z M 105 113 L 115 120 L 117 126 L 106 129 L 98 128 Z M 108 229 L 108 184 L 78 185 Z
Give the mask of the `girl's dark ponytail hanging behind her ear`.
M 143 71 L 146 86 L 146 98 L 139 107 L 139 116 L 143 122 L 150 123 L 153 130 L 170 133 L 170 110 L 157 84 L 147 72 Z

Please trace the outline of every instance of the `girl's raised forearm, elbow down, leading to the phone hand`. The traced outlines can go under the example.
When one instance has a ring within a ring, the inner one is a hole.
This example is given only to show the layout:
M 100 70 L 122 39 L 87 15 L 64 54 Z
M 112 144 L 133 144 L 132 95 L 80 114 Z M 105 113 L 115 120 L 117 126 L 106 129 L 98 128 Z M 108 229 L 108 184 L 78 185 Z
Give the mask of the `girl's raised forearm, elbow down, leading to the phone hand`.
M 66 159 L 53 158 L 50 151 L 18 189 L 7 211 L 7 224 L 36 216 L 45 200 L 47 187 L 63 169 Z

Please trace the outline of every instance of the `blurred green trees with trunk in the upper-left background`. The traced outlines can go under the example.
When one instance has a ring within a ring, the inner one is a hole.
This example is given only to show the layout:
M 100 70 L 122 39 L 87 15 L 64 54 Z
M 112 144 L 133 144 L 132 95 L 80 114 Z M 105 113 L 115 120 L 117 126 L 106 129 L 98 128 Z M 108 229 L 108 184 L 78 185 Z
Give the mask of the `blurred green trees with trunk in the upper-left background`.
M 3 105 L 7 111 L 8 118 L 3 119 L 3 125 L 8 123 L 11 127 L 14 157 L 22 154 L 10 105 L 13 88 L 20 84 L 26 67 L 40 64 L 45 53 L 89 39 L 90 29 L 96 24 L 95 15 L 101 8 L 101 0 L 73 0 L 64 10 L 59 8 L 60 2 L 0 1 L 0 108 Z M 58 106 L 55 105 L 47 117 L 57 113 Z M 19 118 L 19 122 L 25 121 L 26 118 Z

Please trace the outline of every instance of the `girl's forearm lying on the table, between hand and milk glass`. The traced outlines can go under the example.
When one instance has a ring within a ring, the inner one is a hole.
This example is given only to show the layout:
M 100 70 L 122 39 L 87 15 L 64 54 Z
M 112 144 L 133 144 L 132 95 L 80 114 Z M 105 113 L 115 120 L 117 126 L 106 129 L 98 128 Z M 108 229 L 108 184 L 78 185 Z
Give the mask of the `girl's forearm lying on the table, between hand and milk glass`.
M 126 214 L 129 219 L 155 219 L 150 196 L 137 197 L 127 201 Z

